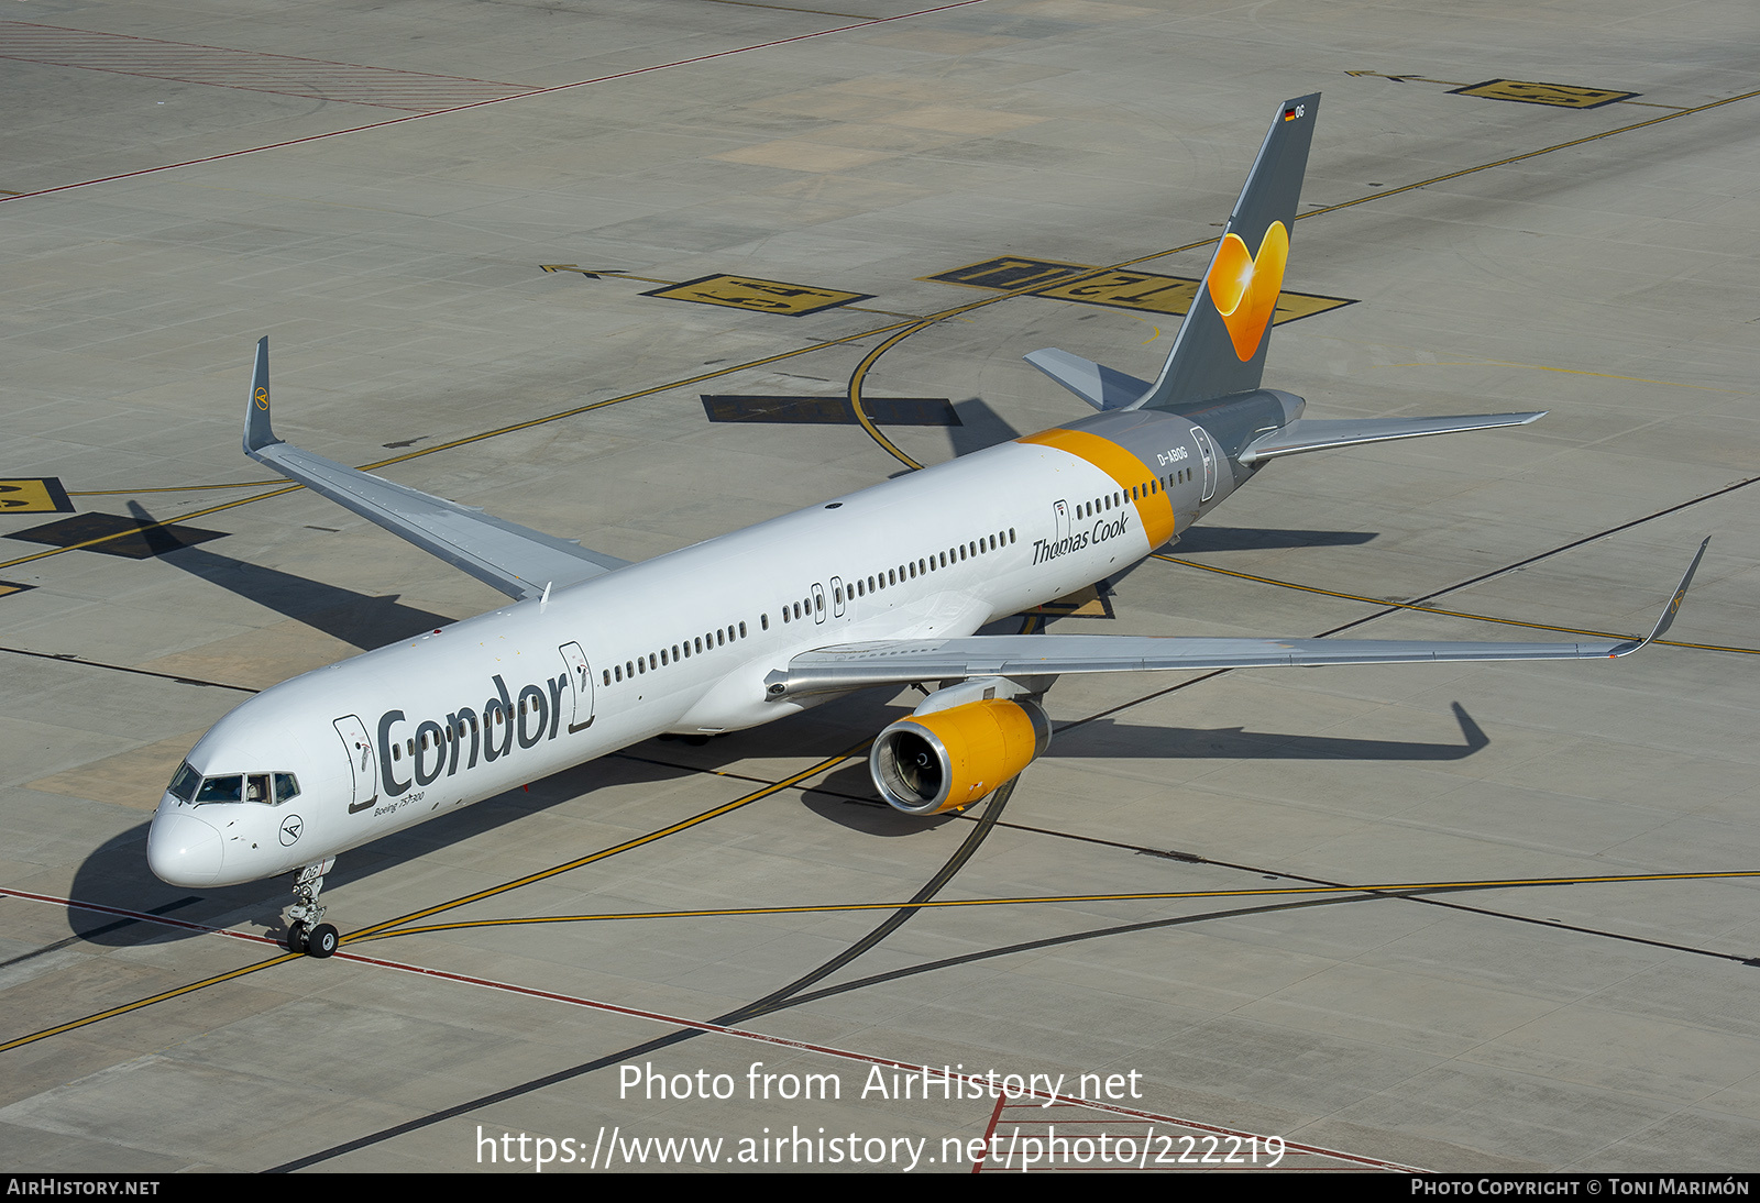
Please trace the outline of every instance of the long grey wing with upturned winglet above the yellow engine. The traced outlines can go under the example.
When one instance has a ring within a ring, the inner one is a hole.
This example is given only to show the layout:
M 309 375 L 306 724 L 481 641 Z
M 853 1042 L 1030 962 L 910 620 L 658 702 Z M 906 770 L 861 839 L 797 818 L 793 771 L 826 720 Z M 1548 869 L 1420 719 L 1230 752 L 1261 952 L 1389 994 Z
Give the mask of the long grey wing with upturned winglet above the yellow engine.
M 1067 672 L 1410 665 L 1470 660 L 1598 660 L 1626 656 L 1674 623 L 1705 556 L 1698 545 L 1681 586 L 1647 638 L 1577 644 L 1468 644 L 1368 638 L 1183 638 L 1155 635 L 970 635 L 840 644 L 801 653 L 764 681 L 771 700 L 919 681 L 1049 677 Z

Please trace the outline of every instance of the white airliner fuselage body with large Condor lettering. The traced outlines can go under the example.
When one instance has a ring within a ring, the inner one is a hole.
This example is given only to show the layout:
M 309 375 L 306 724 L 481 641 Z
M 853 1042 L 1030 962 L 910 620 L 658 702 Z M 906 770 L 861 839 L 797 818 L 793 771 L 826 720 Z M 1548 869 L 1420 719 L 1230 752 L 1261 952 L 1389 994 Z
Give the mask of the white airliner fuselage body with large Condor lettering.
M 1190 422 L 1167 429 L 1192 441 Z M 1220 475 L 1209 499 L 1167 489 L 1179 529 L 1227 496 Z M 767 702 L 764 677 L 803 651 L 972 635 L 1148 556 L 1118 491 L 1010 441 L 308 672 L 188 755 L 204 777 L 290 774 L 297 797 L 167 791 L 150 864 L 185 886 L 253 881 L 664 732 L 794 714 L 806 704 Z

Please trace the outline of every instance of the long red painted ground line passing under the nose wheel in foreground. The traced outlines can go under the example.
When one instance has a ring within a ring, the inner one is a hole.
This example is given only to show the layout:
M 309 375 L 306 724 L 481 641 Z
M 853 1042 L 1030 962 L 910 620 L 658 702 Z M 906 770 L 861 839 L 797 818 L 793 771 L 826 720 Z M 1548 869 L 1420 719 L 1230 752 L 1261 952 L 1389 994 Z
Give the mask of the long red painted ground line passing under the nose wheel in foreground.
M 74 908 L 74 909 L 81 909 L 81 911 L 97 911 L 99 915 L 118 915 L 118 916 L 123 916 L 123 918 L 141 920 L 143 923 L 164 923 L 165 927 L 180 927 L 180 929 L 185 929 L 185 930 L 206 932 L 206 934 L 213 934 L 213 936 L 229 936 L 232 939 L 248 939 L 248 941 L 255 941 L 255 943 L 262 943 L 262 944 L 275 944 L 276 948 L 280 948 L 280 943 L 275 941 L 275 939 L 269 939 L 268 936 L 253 936 L 250 932 L 234 932 L 231 929 L 209 927 L 206 923 L 190 923 L 188 920 L 174 920 L 174 918 L 167 918 L 164 915 L 148 915 L 146 911 L 128 911 L 128 909 L 123 909 L 123 908 L 118 908 L 118 906 L 104 906 L 104 904 L 99 904 L 99 902 L 77 902 L 74 899 L 58 899 L 55 895 L 49 895 L 49 893 L 30 893 L 26 890 L 9 890 L 5 886 L 0 886 L 0 895 L 7 895 L 7 897 L 14 897 L 14 899 L 26 899 L 30 902 L 49 902 L 49 904 L 55 904 L 55 906 L 67 906 L 67 908 Z M 361 953 L 343 951 L 341 948 L 336 950 L 336 953 L 331 957 L 331 960 L 352 960 L 352 962 L 357 962 L 357 964 L 363 964 L 363 966 L 377 966 L 380 969 L 394 969 L 398 973 L 412 973 L 412 974 L 417 974 L 421 978 L 435 978 L 438 981 L 456 981 L 459 985 L 472 985 L 472 987 L 479 987 L 479 988 L 484 988 L 484 990 L 500 990 L 503 994 L 517 994 L 517 995 L 523 995 L 523 997 L 528 997 L 528 999 L 544 999 L 547 1002 L 565 1002 L 568 1006 L 581 1006 L 581 1008 L 586 1008 L 590 1011 L 602 1011 L 605 1015 L 623 1015 L 627 1018 L 651 1020 L 655 1024 L 665 1024 L 669 1027 L 688 1027 L 688 1029 L 693 1029 L 693 1031 L 699 1031 L 699 1032 L 715 1032 L 718 1036 L 737 1036 L 739 1039 L 752 1039 L 752 1041 L 757 1041 L 760 1045 L 776 1045 L 776 1046 L 781 1046 L 781 1048 L 794 1048 L 797 1052 L 813 1052 L 813 1054 L 820 1054 L 824 1057 L 836 1057 L 840 1061 L 854 1061 L 854 1062 L 866 1064 L 866 1066 L 882 1066 L 885 1069 L 903 1069 L 903 1071 L 912 1073 L 912 1075 L 926 1073 L 933 1080 L 940 1080 L 943 1076 L 943 1071 L 936 1071 L 935 1066 L 912 1064 L 908 1061 L 892 1061 L 891 1057 L 875 1057 L 875 1055 L 869 1055 L 869 1054 L 850 1052 L 848 1048 L 836 1048 L 832 1045 L 813 1045 L 813 1043 L 808 1043 L 804 1039 L 788 1039 L 787 1036 L 769 1036 L 766 1032 L 753 1032 L 753 1031 L 744 1029 L 744 1027 L 727 1027 L 725 1024 L 708 1024 L 704 1020 L 692 1020 L 692 1018 L 685 1018 L 681 1015 L 667 1015 L 664 1011 L 644 1011 L 644 1010 L 634 1008 L 634 1006 L 618 1006 L 616 1002 L 600 1002 L 597 999 L 583 999 L 583 997 L 577 997 L 574 994 L 558 994 L 556 990 L 539 990 L 537 987 L 514 985 L 512 981 L 496 981 L 495 978 L 475 978 L 475 976 L 470 976 L 470 974 L 451 973 L 451 971 L 445 971 L 445 969 L 429 969 L 428 966 L 412 966 L 412 964 L 407 964 L 407 962 L 401 962 L 401 960 L 385 960 L 384 957 L 364 957 Z M 975 1075 L 975 1073 L 947 1073 L 945 1076 L 947 1076 L 949 1083 L 952 1083 L 952 1082 L 963 1082 L 963 1083 L 966 1083 L 970 1087 L 979 1087 L 980 1092 L 977 1096 L 973 1096 L 973 1097 L 982 1097 L 982 1090 L 989 1087 L 989 1078 L 986 1078 L 982 1075 Z M 1075 1099 L 1075 1097 L 1070 1097 L 1067 1094 L 1047 1094 L 1045 1090 L 1037 1090 L 1037 1089 L 1026 1089 L 1019 1097 L 1045 1099 L 1047 1103 L 1054 1103 L 1054 1105 L 1079 1106 L 1079 1108 L 1088 1110 L 1088 1112 L 1105 1112 L 1109 1115 L 1121 1115 L 1121 1117 L 1126 1117 L 1126 1119 L 1137 1119 L 1137 1120 L 1144 1120 L 1144 1122 L 1169 1124 L 1172 1127 L 1186 1127 L 1186 1129 L 1199 1131 L 1199 1133 L 1213 1133 L 1216 1136 L 1239 1136 L 1243 1140 L 1251 1138 L 1251 1140 L 1260 1140 L 1260 1141 L 1265 1140 L 1265 1136 L 1262 1136 L 1260 1133 L 1250 1133 L 1250 1131 L 1239 1129 L 1239 1127 L 1221 1127 L 1218 1124 L 1204 1124 L 1200 1120 L 1188 1120 L 1188 1119 L 1181 1119 L 1177 1115 L 1162 1115 L 1158 1112 L 1142 1112 L 1142 1110 L 1137 1110 L 1137 1108 L 1118 1106 L 1116 1103 L 1100 1103 L 1100 1101 L 1095 1101 L 1095 1099 Z M 989 1138 L 991 1133 L 994 1133 L 996 1120 L 1001 1115 L 1001 1108 L 1005 1105 L 1008 1105 L 1008 1096 L 1007 1094 L 1000 1094 L 998 1099 L 996 1099 L 996 1110 L 991 1115 L 991 1124 L 986 1129 L 986 1150 L 989 1148 L 989 1140 L 987 1138 Z M 1024 1105 L 1024 1103 L 1014 1103 L 1012 1106 L 1028 1106 L 1028 1105 Z M 1038 1108 L 1035 1106 L 1035 1110 L 1038 1110 Z M 1285 1152 L 1313 1154 L 1316 1157 L 1329 1157 L 1332 1161 L 1345 1161 L 1345 1163 L 1350 1163 L 1353 1166 L 1364 1166 L 1364 1168 L 1371 1168 L 1371 1170 L 1394 1170 L 1394 1171 L 1399 1171 L 1399 1173 L 1424 1173 L 1422 1170 L 1417 1170 L 1413 1166 L 1403 1166 L 1397 1161 L 1383 1161 L 1380 1157 L 1364 1157 L 1364 1156 L 1359 1156 L 1359 1154 L 1341 1152 L 1338 1148 L 1324 1148 L 1320 1145 L 1302 1145 L 1302 1143 L 1297 1143 L 1297 1141 L 1292 1141 L 1292 1140 L 1285 1140 L 1283 1141 L 1283 1148 L 1285 1148 Z M 973 1166 L 973 1173 L 977 1173 L 977 1166 Z

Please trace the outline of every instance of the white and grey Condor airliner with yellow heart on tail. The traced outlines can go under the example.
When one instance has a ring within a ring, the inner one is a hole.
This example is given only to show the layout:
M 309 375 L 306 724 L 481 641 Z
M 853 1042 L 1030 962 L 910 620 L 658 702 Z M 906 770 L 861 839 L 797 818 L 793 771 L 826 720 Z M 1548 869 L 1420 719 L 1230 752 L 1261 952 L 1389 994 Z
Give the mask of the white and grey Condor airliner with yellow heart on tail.
M 667 732 L 769 723 L 869 686 L 940 682 L 873 742 L 880 795 L 970 806 L 1051 737 L 1074 672 L 1624 656 L 1575 644 L 977 635 L 1118 575 L 1269 461 L 1540 413 L 1311 420 L 1260 387 L 1318 95 L 1280 107 L 1156 380 L 1040 350 L 1096 413 L 797 514 L 625 563 L 304 452 L 269 424 L 257 345 L 245 452 L 514 598 L 250 698 L 190 751 L 148 862 L 202 888 L 296 872 L 289 948 L 327 957 L 338 853 Z

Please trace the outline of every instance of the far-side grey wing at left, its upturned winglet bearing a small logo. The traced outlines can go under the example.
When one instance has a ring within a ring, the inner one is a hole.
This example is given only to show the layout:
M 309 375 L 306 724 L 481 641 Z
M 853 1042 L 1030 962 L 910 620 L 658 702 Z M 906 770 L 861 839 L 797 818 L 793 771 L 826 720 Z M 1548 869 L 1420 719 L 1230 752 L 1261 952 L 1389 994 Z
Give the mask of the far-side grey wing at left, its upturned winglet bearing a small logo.
M 454 568 L 463 568 L 510 598 L 542 596 L 551 586 L 577 584 L 628 563 L 493 517 L 477 507 L 447 501 L 347 468 L 278 440 L 269 427 L 268 338 L 257 343 L 257 371 L 250 394 L 245 419 L 246 456 L 384 526 Z

